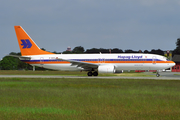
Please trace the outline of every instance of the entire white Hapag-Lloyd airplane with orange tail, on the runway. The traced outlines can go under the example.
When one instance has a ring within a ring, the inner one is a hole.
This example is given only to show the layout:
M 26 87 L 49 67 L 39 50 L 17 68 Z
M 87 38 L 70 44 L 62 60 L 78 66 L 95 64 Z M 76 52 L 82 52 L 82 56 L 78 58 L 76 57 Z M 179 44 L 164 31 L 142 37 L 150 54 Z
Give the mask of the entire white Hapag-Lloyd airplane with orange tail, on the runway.
M 53 70 L 87 71 L 88 76 L 120 70 L 157 70 L 156 76 L 159 77 L 159 70 L 175 65 L 173 61 L 156 54 L 54 54 L 41 50 L 21 26 L 14 28 L 21 51 L 18 58 L 32 66 Z

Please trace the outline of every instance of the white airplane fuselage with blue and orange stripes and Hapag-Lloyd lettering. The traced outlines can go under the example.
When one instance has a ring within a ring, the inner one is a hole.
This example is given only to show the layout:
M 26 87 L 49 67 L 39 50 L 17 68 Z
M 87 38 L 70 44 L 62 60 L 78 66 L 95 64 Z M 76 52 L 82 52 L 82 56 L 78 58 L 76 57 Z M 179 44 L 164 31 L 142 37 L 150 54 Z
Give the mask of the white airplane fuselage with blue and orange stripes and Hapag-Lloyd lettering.
M 86 70 L 78 65 L 72 65 L 65 60 L 93 63 L 98 66 L 113 65 L 115 70 L 161 70 L 175 65 L 173 61 L 155 54 L 51 54 L 33 55 L 30 60 L 22 60 L 33 66 L 55 70 L 81 71 Z M 88 71 L 88 70 L 87 70 Z

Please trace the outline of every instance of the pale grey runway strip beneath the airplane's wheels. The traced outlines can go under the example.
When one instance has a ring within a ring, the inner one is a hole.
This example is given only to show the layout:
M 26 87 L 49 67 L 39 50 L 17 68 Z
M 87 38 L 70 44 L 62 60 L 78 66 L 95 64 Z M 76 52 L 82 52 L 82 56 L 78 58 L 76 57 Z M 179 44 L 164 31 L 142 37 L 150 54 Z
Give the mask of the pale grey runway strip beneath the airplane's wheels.
M 122 76 L 108 76 L 108 77 L 88 77 L 88 76 L 58 76 L 58 75 L 0 75 L 0 78 L 93 78 L 93 79 L 155 79 L 155 80 L 180 80 L 180 73 L 162 72 L 160 77 L 156 77 L 154 73 L 145 73 L 154 75 L 154 77 L 122 77 Z

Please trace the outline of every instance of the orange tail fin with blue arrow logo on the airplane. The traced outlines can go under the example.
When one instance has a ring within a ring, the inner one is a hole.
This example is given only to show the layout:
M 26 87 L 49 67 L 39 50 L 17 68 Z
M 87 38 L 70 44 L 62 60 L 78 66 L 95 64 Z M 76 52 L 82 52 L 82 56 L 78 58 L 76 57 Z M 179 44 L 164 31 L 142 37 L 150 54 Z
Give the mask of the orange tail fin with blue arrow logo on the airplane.
M 41 50 L 21 26 L 14 26 L 22 56 L 53 54 Z

